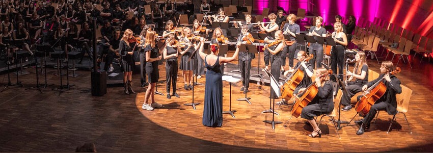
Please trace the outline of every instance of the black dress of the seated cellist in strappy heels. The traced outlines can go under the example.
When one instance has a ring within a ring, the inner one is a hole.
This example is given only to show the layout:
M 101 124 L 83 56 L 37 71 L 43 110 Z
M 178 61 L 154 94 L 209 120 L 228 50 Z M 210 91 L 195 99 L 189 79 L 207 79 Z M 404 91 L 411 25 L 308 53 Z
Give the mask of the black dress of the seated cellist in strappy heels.
M 312 120 L 314 116 L 331 113 L 334 110 L 333 92 L 334 88 L 329 81 L 323 87 L 318 87 L 317 95 L 302 109 L 301 118 Z

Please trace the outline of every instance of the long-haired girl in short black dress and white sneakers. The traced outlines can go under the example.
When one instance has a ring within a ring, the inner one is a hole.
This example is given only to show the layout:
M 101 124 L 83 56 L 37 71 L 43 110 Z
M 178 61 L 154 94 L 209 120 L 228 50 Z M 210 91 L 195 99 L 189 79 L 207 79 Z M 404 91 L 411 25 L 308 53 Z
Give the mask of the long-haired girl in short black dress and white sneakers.
M 146 54 L 146 73 L 149 82 L 149 87 L 146 90 L 142 109 L 151 111 L 153 108 L 162 108 L 163 106 L 155 102 L 155 86 L 159 79 L 158 47 L 155 44 L 155 32 L 149 31 L 146 33 L 146 43 L 144 44 L 144 52 Z M 150 98 L 150 103 L 148 103 Z

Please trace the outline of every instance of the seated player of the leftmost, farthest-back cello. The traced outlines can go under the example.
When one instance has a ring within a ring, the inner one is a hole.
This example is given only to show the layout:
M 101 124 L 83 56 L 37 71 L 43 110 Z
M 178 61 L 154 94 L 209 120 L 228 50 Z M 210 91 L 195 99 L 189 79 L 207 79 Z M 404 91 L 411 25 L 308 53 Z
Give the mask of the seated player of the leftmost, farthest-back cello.
M 311 82 L 311 77 L 313 77 L 313 66 L 308 63 L 308 61 L 306 61 L 306 58 L 308 57 L 308 55 L 305 53 L 304 50 L 301 50 L 297 53 L 297 59 L 299 60 L 299 62 L 296 63 L 295 67 L 299 67 L 299 71 L 304 72 L 304 78 L 302 79 L 302 81 L 299 83 L 299 85 L 296 86 L 296 88 L 293 90 L 293 95 L 296 95 L 297 93 L 299 93 L 300 89 L 305 90 L 305 88 L 310 85 Z M 295 69 L 289 69 L 287 71 L 284 72 L 284 76 L 287 76 L 288 73 L 293 73 Z M 291 79 L 291 78 L 289 78 Z M 287 101 L 284 99 L 277 102 L 278 105 L 288 105 Z

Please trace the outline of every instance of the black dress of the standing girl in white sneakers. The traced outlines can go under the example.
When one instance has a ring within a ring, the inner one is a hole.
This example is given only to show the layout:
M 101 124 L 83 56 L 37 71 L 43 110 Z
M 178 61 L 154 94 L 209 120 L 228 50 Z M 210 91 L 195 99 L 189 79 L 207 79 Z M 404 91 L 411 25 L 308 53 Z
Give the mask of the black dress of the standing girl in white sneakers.
M 158 50 L 155 45 L 155 47 L 152 48 L 150 44 L 146 45 L 144 47 L 144 52 L 150 52 L 150 58 L 157 58 L 158 57 Z M 159 79 L 159 70 L 158 70 L 158 61 L 153 62 L 147 62 L 146 63 L 146 73 L 147 73 L 147 79 L 149 83 L 156 83 Z

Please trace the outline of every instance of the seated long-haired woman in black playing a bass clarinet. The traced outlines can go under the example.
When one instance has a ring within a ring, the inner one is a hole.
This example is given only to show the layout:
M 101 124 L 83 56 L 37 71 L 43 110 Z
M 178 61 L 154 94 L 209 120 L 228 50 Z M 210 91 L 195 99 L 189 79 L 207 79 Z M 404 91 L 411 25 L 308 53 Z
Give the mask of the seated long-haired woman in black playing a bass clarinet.
M 353 82 L 349 82 L 348 86 L 346 86 L 346 91 L 343 92 L 343 96 L 341 97 L 341 105 L 343 105 L 342 111 L 349 111 L 352 109 L 350 106 L 350 98 L 353 97 L 358 92 L 362 91 L 362 86 L 368 83 L 368 65 L 367 60 L 365 59 L 364 52 L 358 52 L 355 55 L 356 64 L 354 67 L 354 71 L 346 71 L 346 75 L 350 76 L 347 81 L 351 81 L 356 79 Z

